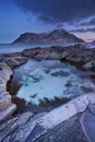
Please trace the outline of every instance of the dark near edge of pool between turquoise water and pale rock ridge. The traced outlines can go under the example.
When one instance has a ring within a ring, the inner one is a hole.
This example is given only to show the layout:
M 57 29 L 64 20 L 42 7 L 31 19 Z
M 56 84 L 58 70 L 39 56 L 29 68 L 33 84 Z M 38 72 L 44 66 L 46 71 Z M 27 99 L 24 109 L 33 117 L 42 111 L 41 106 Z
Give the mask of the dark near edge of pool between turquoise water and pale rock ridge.
M 54 99 L 48 99 L 47 97 L 45 97 L 44 99 L 39 99 L 38 106 L 32 104 L 32 102 L 26 103 L 25 99 L 16 96 L 12 97 L 12 100 L 14 104 L 16 104 L 17 107 L 15 114 L 25 113 L 25 111 L 32 111 L 34 114 L 38 114 L 38 113 L 50 111 L 51 109 L 68 103 L 70 98 L 55 97 Z

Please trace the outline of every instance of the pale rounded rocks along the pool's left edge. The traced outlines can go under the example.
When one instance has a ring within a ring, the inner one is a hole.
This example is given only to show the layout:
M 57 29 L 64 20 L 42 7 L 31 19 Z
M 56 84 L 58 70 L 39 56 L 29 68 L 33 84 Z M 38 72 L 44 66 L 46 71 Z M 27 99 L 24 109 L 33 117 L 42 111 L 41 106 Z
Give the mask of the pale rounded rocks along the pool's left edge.
M 7 83 L 11 75 L 12 70 L 5 63 L 0 63 L 0 121 L 10 118 L 16 109 L 7 92 Z

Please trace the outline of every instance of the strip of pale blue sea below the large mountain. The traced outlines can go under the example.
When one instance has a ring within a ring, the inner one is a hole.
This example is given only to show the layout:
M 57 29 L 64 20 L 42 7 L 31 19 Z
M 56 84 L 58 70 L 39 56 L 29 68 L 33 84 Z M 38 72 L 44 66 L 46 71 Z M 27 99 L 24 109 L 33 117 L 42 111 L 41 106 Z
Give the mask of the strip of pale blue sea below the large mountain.
M 22 51 L 24 49 L 36 48 L 36 47 L 51 47 L 51 46 L 62 46 L 68 47 L 73 44 L 0 44 L 0 54 Z

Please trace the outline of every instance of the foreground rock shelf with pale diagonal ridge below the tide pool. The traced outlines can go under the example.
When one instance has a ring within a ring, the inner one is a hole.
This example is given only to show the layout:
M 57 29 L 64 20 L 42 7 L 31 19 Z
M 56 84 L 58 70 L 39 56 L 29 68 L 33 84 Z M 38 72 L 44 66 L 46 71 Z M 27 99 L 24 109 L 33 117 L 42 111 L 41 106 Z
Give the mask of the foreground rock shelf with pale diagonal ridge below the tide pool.
M 25 113 L 0 125 L 3 142 L 88 142 L 80 122 L 79 113 L 95 104 L 95 94 L 85 94 L 50 113 L 34 116 Z M 69 137 L 70 135 L 70 137 Z

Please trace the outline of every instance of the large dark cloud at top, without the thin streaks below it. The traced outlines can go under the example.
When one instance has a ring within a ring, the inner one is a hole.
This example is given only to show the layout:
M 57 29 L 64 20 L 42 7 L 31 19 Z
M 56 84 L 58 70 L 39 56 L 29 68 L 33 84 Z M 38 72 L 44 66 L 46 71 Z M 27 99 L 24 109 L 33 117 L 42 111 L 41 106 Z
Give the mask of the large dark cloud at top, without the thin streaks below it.
M 95 0 L 14 0 L 45 22 L 73 22 L 95 15 Z

